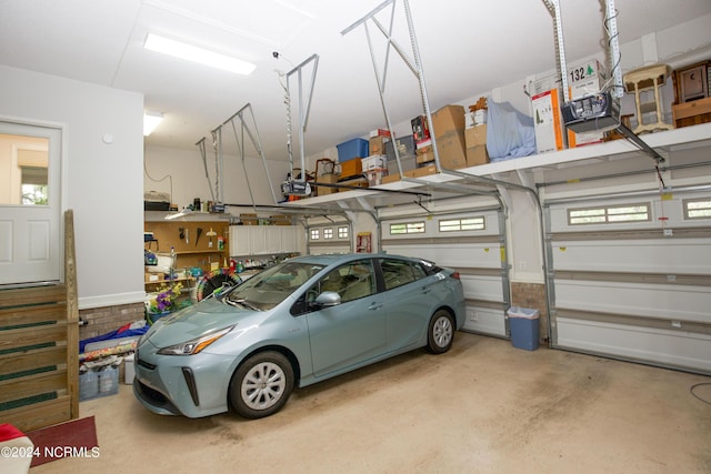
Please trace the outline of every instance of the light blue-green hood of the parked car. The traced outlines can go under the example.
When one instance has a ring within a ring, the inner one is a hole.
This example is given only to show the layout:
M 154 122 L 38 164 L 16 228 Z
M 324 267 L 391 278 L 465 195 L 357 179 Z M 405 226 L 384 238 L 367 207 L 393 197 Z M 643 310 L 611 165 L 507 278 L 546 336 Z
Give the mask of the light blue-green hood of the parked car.
M 233 307 L 216 299 L 204 300 L 158 320 L 146 333 L 143 341 L 150 341 L 157 347 L 166 347 L 230 325 L 247 322 L 253 324 L 266 315 L 267 312 Z

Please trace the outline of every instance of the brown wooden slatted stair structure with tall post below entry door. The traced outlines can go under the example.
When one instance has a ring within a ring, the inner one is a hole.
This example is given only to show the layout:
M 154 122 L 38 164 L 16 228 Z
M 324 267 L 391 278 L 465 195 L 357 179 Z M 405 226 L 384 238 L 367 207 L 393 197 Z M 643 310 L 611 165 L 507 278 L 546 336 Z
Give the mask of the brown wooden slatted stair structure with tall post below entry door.
M 32 431 L 79 417 L 73 213 L 64 213 L 64 283 L 0 290 L 0 422 Z

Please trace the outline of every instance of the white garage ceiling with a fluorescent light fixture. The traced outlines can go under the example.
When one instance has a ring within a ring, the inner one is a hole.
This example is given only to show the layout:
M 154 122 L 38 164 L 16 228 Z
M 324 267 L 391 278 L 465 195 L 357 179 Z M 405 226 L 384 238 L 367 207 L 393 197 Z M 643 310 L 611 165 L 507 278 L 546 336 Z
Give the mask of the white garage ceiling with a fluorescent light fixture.
M 267 159 L 286 159 L 286 105 L 277 70 L 319 56 L 307 154 L 363 135 L 384 119 L 363 27 L 381 0 L 0 0 L 0 63 L 144 94 L 166 120 L 148 145 L 196 142 L 250 103 Z M 394 38 L 410 39 L 402 0 Z M 541 0 L 410 0 L 432 109 L 555 68 Z M 620 42 L 711 13 L 710 0 L 617 0 Z M 561 0 L 568 58 L 599 53 L 600 0 Z M 391 8 L 378 18 L 389 24 Z M 142 48 L 148 32 L 254 62 L 249 77 Z M 382 61 L 383 36 L 370 28 Z M 279 52 L 279 58 L 273 52 Z M 420 93 L 392 54 L 385 83 L 392 123 L 421 113 Z M 382 69 L 382 64 L 380 65 Z M 304 70 L 304 82 L 310 70 Z M 296 107 L 296 82 L 291 83 Z M 296 110 L 296 109 L 294 109 Z M 231 133 L 231 129 L 229 129 Z M 293 133 L 298 133 L 294 125 Z

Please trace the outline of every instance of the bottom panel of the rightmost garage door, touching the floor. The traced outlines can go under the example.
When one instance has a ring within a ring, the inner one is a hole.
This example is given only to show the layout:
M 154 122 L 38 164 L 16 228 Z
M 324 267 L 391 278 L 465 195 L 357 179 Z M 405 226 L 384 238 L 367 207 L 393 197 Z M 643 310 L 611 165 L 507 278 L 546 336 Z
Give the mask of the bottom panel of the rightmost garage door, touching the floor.
M 558 345 L 711 372 L 711 335 L 559 317 Z

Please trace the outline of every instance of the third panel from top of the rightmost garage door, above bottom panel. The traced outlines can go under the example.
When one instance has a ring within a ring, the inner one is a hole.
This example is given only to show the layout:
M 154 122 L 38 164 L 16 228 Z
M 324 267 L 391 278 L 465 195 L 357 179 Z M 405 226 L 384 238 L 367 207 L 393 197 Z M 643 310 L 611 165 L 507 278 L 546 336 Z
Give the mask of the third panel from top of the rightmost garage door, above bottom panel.
M 711 324 L 711 289 L 594 281 L 555 281 L 555 307 Z

